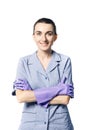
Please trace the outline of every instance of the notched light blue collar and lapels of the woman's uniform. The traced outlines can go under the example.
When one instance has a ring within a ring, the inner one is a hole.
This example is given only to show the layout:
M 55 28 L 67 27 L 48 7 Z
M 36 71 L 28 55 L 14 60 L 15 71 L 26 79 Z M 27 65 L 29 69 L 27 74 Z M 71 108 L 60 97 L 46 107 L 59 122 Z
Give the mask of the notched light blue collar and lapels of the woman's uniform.
M 60 61 L 61 61 L 61 55 L 53 51 L 51 61 L 47 67 L 47 70 L 45 71 L 35 52 L 34 54 L 30 56 L 28 60 L 28 65 L 32 65 L 33 69 L 44 74 L 46 72 L 52 71 L 57 65 L 60 64 Z

